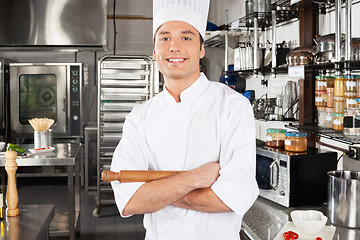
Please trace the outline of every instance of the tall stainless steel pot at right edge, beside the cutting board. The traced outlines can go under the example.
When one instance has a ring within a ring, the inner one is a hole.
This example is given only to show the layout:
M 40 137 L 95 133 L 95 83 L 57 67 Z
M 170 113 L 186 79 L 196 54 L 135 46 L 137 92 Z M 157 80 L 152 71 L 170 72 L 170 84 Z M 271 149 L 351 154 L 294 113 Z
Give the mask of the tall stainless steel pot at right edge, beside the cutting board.
M 334 225 L 360 228 L 360 172 L 328 172 L 328 216 Z

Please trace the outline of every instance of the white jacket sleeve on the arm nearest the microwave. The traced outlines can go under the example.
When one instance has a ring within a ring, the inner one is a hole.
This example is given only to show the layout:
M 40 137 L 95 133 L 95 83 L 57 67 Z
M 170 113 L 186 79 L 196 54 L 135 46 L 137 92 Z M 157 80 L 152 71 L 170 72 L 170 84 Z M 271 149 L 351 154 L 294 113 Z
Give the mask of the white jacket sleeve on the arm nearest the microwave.
M 256 200 L 255 121 L 249 101 L 237 96 L 221 117 L 220 176 L 211 186 L 215 194 L 243 217 Z

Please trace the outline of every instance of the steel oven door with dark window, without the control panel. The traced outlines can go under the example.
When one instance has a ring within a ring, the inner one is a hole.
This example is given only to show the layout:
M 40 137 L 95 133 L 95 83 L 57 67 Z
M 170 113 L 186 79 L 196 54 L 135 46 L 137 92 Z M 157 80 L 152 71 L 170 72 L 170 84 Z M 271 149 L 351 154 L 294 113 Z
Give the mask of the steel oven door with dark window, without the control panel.
M 55 134 L 66 133 L 66 66 L 10 65 L 11 131 L 33 133 L 31 118 L 51 118 Z

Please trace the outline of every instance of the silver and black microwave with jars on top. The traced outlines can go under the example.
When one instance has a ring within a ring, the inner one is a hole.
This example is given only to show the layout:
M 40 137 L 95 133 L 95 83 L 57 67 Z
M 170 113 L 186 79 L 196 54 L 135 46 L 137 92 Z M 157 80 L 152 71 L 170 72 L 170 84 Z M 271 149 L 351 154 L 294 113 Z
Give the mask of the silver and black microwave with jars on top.
M 336 152 L 309 148 L 291 153 L 265 146 L 256 148 L 256 180 L 260 196 L 285 207 L 327 201 L 327 172 L 336 170 Z

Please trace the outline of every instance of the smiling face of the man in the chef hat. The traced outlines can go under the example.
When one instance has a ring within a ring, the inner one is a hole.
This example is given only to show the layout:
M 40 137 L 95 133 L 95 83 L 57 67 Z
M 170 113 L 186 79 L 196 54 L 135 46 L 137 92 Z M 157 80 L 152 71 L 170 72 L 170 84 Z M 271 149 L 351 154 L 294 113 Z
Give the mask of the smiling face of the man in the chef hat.
M 199 59 L 205 50 L 193 26 L 182 21 L 166 22 L 157 30 L 154 41 L 153 56 L 165 80 L 199 77 Z

